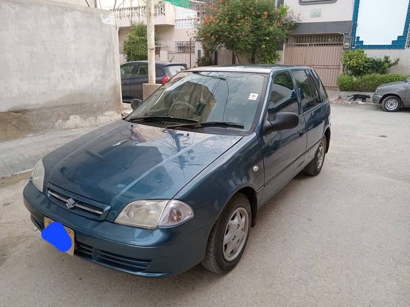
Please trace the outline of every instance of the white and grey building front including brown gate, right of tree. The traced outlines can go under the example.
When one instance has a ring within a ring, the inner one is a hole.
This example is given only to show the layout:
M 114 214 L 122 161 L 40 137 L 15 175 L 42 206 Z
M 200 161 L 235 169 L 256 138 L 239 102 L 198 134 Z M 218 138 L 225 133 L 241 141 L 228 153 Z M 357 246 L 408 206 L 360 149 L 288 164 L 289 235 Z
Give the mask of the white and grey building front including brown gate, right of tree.
M 350 48 L 352 0 L 278 0 L 298 15 L 299 26 L 284 46 L 284 64 L 308 65 L 327 89 L 337 89 L 340 56 Z

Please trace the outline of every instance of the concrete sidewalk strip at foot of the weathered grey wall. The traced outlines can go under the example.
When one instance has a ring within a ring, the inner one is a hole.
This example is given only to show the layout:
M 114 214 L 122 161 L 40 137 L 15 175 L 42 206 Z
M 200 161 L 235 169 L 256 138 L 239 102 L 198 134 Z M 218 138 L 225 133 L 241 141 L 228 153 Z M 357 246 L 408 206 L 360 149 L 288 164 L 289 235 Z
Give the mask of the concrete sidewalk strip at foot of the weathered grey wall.
M 32 169 L 47 153 L 102 126 L 104 124 L 0 142 L 0 178 Z

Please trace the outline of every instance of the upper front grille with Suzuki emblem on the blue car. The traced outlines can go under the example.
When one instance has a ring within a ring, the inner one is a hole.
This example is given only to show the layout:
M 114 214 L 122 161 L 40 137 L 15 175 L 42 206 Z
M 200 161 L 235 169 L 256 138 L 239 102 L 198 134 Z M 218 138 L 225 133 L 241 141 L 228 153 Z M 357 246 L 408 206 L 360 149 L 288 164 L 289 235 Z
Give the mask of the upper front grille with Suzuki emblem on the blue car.
M 49 185 L 47 195 L 54 204 L 94 220 L 104 220 L 110 206 Z

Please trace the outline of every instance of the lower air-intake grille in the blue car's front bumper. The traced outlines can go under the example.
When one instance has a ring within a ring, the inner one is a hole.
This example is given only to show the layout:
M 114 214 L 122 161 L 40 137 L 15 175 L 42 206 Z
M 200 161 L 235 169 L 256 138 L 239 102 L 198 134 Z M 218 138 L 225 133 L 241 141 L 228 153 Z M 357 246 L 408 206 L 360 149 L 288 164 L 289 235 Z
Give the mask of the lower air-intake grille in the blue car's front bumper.
M 97 264 L 130 272 L 142 272 L 148 268 L 151 260 L 134 259 L 117 255 L 76 241 L 74 253 Z

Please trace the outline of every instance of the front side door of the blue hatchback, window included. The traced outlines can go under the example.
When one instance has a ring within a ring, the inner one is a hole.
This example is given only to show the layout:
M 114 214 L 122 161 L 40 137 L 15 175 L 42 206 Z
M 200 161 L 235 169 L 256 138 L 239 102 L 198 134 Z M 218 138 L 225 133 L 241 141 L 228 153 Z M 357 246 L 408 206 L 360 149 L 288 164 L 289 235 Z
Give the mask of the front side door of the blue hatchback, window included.
M 273 77 L 268 120 L 275 114 L 292 112 L 299 116 L 299 125 L 292 129 L 274 131 L 260 138 L 265 169 L 265 188 L 262 202 L 269 200 L 283 185 L 302 170 L 305 151 L 305 122 L 301 113 L 295 84 L 289 72 L 281 72 Z

